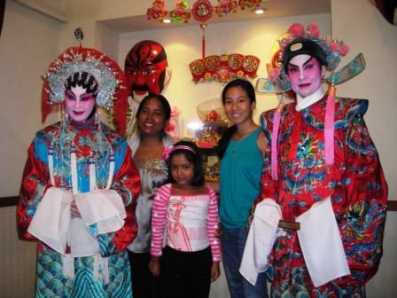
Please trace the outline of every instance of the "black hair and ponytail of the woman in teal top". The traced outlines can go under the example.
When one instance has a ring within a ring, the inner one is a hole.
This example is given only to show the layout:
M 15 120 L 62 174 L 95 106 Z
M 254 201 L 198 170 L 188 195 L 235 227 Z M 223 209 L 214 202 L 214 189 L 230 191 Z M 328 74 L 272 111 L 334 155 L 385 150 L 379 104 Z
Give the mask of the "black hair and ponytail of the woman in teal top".
M 228 92 L 228 90 L 230 90 L 230 88 L 233 88 L 233 87 L 240 87 L 242 90 L 245 90 L 246 96 L 250 99 L 251 103 L 256 102 L 255 89 L 253 88 L 253 84 L 246 80 L 237 79 L 237 80 L 229 82 L 225 86 L 225 88 L 223 88 L 223 90 L 222 90 L 223 106 L 225 105 L 225 101 L 226 101 L 226 93 Z M 222 159 L 224 153 L 226 152 L 226 148 L 229 145 L 230 138 L 231 138 L 231 136 L 233 136 L 233 134 L 236 132 L 236 130 L 237 130 L 236 125 L 230 126 L 230 128 L 226 129 L 226 131 L 223 133 L 221 139 L 218 141 L 219 158 Z

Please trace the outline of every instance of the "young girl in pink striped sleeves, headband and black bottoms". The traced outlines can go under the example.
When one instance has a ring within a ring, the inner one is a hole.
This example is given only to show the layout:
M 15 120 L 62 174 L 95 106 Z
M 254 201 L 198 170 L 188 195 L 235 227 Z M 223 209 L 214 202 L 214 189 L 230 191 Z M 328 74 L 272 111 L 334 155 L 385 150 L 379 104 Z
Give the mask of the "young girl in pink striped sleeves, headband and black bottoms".
M 220 275 L 220 245 L 214 235 L 218 201 L 214 190 L 204 185 L 196 145 L 180 141 L 166 155 L 168 184 L 153 200 L 149 269 L 154 276 L 161 269 L 166 297 L 208 297 L 211 281 Z M 166 247 L 161 250 L 164 231 Z

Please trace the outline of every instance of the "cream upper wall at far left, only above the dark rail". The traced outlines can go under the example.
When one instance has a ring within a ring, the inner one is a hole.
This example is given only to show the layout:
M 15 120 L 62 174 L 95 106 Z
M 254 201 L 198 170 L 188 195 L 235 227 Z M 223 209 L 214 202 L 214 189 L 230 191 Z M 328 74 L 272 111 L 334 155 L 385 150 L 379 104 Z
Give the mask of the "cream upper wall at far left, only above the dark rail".
M 19 193 L 27 147 L 41 129 L 40 75 L 59 54 L 62 24 L 6 2 L 0 43 L 0 197 Z M 49 119 L 50 121 L 53 120 Z

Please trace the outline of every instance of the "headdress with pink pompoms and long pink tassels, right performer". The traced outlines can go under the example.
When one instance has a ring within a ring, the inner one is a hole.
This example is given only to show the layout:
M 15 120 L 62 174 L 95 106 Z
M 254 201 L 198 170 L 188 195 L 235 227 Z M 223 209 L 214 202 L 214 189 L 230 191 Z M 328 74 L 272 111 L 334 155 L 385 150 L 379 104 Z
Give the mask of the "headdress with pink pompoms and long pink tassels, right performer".
M 315 57 L 321 65 L 333 70 L 338 67 L 340 57 L 349 51 L 348 46 L 338 40 L 330 40 L 320 37 L 317 24 L 311 23 L 303 27 L 299 23 L 292 24 L 288 32 L 278 41 L 278 51 L 272 57 L 268 66 L 269 77 L 257 82 L 256 90 L 259 92 L 286 92 L 291 90 L 291 84 L 287 79 L 286 67 L 290 60 L 298 55 L 307 54 Z M 346 67 L 337 73 L 332 72 L 326 79 L 331 84 L 328 90 L 328 98 L 324 119 L 324 147 L 325 162 L 331 165 L 334 161 L 334 114 L 335 114 L 335 84 L 346 82 L 358 75 L 365 68 L 365 60 L 359 54 Z M 277 137 L 281 113 L 283 111 L 283 100 L 276 108 L 271 142 L 271 176 L 277 179 Z

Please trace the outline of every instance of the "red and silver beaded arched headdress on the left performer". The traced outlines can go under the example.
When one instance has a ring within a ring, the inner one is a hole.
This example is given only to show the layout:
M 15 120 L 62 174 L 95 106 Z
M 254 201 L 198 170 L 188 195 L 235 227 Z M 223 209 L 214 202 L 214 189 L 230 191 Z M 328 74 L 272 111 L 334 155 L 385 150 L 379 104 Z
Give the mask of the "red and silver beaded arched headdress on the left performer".
M 64 101 L 67 78 L 84 72 L 96 79 L 97 106 L 106 109 L 114 106 L 114 124 L 118 133 L 123 136 L 128 109 L 128 90 L 124 74 L 113 59 L 100 51 L 82 48 L 81 45 L 64 51 L 51 62 L 43 75 L 42 121 L 51 113 L 52 106 Z

